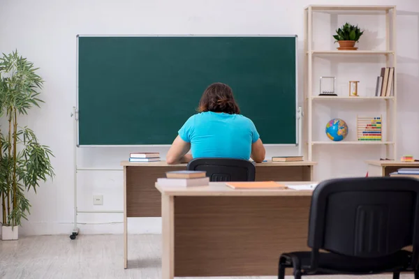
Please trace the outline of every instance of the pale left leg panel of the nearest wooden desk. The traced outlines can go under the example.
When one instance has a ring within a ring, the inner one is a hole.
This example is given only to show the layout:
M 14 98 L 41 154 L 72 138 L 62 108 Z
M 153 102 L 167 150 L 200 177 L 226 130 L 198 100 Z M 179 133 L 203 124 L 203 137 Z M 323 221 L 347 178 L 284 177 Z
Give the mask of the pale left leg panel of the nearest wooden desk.
M 175 211 L 174 197 L 161 195 L 161 221 L 162 221 L 162 255 L 161 255 L 161 278 L 173 279 L 175 276 Z

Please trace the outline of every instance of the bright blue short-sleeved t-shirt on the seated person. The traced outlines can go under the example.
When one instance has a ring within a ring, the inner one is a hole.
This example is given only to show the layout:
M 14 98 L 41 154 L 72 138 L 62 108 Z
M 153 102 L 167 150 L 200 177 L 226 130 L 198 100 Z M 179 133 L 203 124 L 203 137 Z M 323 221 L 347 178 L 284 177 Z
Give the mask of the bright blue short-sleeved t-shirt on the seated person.
M 253 122 L 240 114 L 201 112 L 184 123 L 179 137 L 191 143 L 193 158 L 249 160 L 259 134 Z

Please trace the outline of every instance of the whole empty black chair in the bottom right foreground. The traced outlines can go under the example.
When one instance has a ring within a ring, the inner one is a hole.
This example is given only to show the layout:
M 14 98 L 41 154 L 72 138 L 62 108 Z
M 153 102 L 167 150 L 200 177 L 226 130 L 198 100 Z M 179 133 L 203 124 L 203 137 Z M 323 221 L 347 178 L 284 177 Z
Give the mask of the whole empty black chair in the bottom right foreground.
M 419 181 L 362 177 L 319 183 L 311 198 L 308 246 L 310 252 L 279 257 L 279 279 L 286 268 L 293 268 L 296 279 L 376 273 L 397 279 L 402 271 L 419 279 Z

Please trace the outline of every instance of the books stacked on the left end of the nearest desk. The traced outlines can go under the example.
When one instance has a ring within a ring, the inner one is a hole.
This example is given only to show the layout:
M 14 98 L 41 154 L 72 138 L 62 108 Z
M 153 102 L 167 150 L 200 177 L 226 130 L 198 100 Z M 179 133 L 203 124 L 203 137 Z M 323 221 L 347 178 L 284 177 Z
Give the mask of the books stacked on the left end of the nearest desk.
M 159 186 L 208 186 L 210 177 L 206 174 L 207 172 L 190 170 L 166 172 L 166 178 L 157 179 L 157 183 Z

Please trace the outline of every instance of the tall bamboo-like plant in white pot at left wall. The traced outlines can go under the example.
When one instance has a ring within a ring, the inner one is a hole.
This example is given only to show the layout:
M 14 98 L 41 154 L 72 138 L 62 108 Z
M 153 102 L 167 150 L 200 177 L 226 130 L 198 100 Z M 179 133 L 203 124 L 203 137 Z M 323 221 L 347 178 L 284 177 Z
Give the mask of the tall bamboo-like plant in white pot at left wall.
M 52 151 L 41 145 L 33 130 L 18 126 L 18 116 L 27 114 L 43 100 L 37 90 L 43 85 L 34 63 L 17 51 L 0 58 L 0 116 L 7 126 L 0 127 L 1 239 L 18 239 L 22 218 L 30 214 L 24 193 L 39 187 L 40 181 L 54 176 Z

